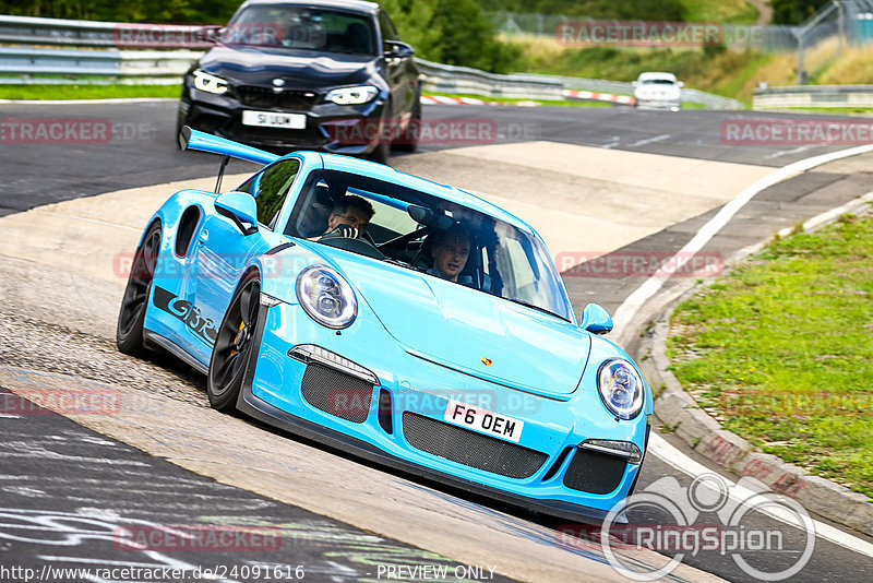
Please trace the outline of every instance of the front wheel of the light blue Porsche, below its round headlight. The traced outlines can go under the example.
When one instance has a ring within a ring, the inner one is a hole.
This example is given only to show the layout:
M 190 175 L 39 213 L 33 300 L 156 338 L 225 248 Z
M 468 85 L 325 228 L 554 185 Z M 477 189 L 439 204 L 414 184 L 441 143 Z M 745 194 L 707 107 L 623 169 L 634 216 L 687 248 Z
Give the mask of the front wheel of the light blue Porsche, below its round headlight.
M 246 367 L 254 347 L 254 331 L 261 298 L 261 281 L 250 272 L 230 299 L 225 312 L 206 377 L 210 405 L 223 413 L 236 409 L 237 397 L 246 377 Z

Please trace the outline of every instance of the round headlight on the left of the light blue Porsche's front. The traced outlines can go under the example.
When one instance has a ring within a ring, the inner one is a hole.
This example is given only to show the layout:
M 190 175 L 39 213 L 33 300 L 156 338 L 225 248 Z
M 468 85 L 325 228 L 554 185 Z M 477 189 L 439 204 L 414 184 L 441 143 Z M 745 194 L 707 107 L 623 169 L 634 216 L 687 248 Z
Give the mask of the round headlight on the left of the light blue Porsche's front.
M 351 286 L 325 265 L 312 265 L 300 272 L 297 297 L 310 318 L 323 326 L 348 328 L 358 316 L 358 301 Z

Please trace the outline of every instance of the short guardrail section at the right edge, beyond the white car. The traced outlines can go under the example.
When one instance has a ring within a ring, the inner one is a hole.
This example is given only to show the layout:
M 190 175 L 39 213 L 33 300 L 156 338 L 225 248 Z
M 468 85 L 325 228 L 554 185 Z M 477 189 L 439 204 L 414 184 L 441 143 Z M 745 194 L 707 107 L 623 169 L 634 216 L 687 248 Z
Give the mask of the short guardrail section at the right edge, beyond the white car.
M 752 109 L 873 107 L 873 85 L 793 85 L 755 90 Z

